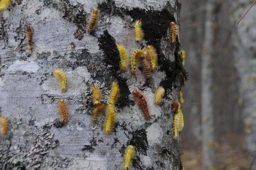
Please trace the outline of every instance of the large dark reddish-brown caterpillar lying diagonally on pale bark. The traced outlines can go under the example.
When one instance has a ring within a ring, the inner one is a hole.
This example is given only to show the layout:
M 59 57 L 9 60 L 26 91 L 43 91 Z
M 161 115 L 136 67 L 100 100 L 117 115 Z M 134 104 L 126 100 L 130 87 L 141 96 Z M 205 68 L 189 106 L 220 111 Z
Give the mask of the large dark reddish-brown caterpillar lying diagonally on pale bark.
M 134 99 L 136 100 L 139 108 L 144 113 L 145 119 L 146 120 L 152 119 L 152 117 L 150 116 L 149 111 L 148 111 L 148 104 L 147 104 L 145 97 L 137 90 L 132 91 L 132 95 L 133 95 Z

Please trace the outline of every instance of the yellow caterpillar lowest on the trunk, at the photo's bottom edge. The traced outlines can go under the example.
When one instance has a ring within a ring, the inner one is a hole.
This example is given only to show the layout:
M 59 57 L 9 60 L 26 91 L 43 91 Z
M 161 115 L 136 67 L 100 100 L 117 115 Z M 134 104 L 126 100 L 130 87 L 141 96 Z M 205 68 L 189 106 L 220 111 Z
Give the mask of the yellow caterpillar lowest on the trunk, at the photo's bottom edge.
M 134 146 L 128 145 L 126 147 L 124 151 L 124 170 L 130 170 L 135 153 Z

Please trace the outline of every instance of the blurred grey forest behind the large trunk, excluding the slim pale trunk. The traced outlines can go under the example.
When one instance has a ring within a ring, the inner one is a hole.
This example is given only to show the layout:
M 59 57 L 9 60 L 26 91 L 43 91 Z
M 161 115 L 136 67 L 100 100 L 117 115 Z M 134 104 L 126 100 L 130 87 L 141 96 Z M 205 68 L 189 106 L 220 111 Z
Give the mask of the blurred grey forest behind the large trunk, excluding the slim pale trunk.
M 212 114 L 217 169 L 255 169 L 256 5 L 235 29 L 254 0 L 181 0 L 181 49 L 189 80 L 184 96 L 181 152 L 185 169 L 202 169 L 202 57 L 206 21 L 212 22 Z M 214 6 L 212 18 L 207 5 Z M 211 41 L 211 40 L 210 40 Z M 254 167 L 253 167 L 254 164 Z M 199 166 L 199 167 L 198 167 Z

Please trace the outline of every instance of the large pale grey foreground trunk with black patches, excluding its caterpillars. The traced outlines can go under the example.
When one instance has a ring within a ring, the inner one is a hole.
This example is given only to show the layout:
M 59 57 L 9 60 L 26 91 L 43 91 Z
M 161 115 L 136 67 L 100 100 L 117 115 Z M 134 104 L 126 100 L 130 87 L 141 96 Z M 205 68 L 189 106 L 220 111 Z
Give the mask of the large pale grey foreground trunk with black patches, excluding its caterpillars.
M 170 104 L 179 100 L 178 72 L 186 72 L 178 58 L 179 43 L 170 44 L 168 28 L 170 22 L 179 22 L 180 6 L 178 0 L 17 0 L 0 12 L 0 115 L 9 120 L 8 134 L 0 138 L 0 167 L 122 169 L 124 148 L 132 144 L 132 169 L 178 170 L 179 141 L 173 140 Z M 99 21 L 89 35 L 95 8 Z M 136 43 L 133 26 L 140 19 L 144 40 Z M 34 28 L 32 51 L 26 45 L 27 24 Z M 159 69 L 152 81 L 146 81 L 141 67 L 137 79 L 130 71 L 119 71 L 116 43 L 127 46 L 129 55 L 140 45 L 156 48 Z M 66 73 L 65 93 L 53 75 L 56 68 Z M 107 136 L 101 129 L 104 114 L 91 123 L 91 87 L 100 87 L 106 103 L 116 79 L 121 91 L 117 123 Z M 166 95 L 156 106 L 154 89 L 159 85 Z M 150 121 L 138 109 L 133 89 L 141 89 L 148 99 Z M 64 126 L 60 99 L 68 108 Z

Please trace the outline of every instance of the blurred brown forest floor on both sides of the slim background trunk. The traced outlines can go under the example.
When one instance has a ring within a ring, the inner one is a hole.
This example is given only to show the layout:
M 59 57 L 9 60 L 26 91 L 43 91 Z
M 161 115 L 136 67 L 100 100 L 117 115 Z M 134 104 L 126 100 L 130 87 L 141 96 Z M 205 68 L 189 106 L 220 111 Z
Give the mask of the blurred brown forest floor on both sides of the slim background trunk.
M 246 150 L 246 142 L 244 136 L 224 135 L 219 141 L 216 149 L 217 169 L 218 170 L 248 170 L 250 161 Z M 183 144 L 182 160 L 185 170 L 202 169 L 202 148 L 191 147 Z M 198 148 L 194 150 L 194 148 Z

